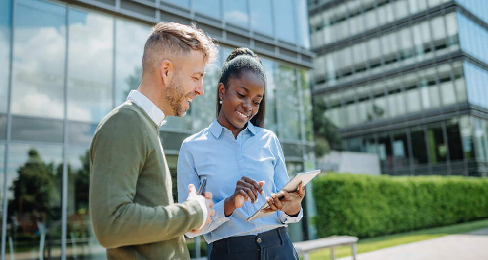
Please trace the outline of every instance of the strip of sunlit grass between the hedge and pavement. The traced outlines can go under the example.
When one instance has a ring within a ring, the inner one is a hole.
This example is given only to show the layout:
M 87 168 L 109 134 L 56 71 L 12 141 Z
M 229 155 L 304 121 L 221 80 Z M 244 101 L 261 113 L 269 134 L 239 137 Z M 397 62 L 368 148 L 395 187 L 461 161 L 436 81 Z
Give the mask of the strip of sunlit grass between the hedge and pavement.
M 386 235 L 376 238 L 364 238 L 359 239 L 357 244 L 358 254 L 374 251 L 386 247 L 392 247 L 401 244 L 407 244 L 416 241 L 422 241 L 431 238 L 439 238 L 451 234 L 459 234 L 469 232 L 473 230 L 488 228 L 488 219 L 454 224 L 444 227 L 436 227 L 429 229 L 422 229 L 416 231 L 410 231 L 405 233 L 398 233 L 393 235 Z M 347 257 L 351 255 L 351 247 L 342 246 L 334 249 L 335 257 Z M 330 249 L 324 249 L 310 253 L 310 260 L 329 260 Z

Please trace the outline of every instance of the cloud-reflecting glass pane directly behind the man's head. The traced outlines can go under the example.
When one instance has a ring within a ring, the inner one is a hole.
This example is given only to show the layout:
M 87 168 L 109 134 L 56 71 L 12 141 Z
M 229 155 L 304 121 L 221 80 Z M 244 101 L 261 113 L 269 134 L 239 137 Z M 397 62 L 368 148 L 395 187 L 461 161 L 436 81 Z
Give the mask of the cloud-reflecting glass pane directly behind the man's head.
M 142 77 L 142 53 L 148 26 L 115 20 L 115 106 L 125 102 L 130 90 L 137 89 Z

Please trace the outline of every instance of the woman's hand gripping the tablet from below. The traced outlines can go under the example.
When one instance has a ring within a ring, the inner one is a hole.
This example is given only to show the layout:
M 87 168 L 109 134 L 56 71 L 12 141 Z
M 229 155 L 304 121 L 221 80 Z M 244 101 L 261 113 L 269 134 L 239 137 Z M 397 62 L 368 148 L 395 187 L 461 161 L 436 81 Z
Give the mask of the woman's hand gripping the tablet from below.
M 280 193 L 283 198 L 278 199 Z M 273 211 L 284 211 L 288 216 L 297 215 L 301 209 L 302 200 L 305 197 L 305 186 L 301 182 L 298 184 L 298 189 L 295 192 L 285 192 L 282 191 L 278 194 L 272 194 L 271 197 L 266 197 L 269 208 L 262 210 L 263 213 L 273 212 Z

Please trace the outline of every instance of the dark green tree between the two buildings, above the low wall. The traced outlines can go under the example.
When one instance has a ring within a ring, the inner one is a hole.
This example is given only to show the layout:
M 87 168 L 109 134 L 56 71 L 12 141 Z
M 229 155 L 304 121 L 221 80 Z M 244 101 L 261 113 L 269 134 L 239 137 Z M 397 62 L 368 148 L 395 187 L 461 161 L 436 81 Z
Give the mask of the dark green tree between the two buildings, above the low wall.
M 312 102 L 312 121 L 317 157 L 322 157 L 330 150 L 344 150 L 344 142 L 339 134 L 338 127 L 325 116 L 325 110 L 327 110 L 325 101 L 321 98 L 315 98 Z

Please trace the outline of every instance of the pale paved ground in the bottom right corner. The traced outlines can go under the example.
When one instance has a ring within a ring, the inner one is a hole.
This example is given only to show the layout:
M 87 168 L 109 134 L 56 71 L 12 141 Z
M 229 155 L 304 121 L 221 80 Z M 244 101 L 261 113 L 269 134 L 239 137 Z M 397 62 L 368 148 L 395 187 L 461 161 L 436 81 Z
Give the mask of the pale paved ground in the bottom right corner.
M 488 260 L 488 228 L 388 247 L 357 255 L 357 260 Z M 352 260 L 352 257 L 339 260 Z

